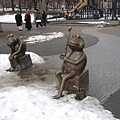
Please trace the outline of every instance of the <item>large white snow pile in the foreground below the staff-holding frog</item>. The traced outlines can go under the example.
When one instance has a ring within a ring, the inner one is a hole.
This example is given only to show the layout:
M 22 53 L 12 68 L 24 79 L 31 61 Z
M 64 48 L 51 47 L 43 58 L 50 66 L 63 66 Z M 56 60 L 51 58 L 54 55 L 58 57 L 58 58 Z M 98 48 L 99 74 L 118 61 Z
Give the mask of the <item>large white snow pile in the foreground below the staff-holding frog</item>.
M 115 120 L 96 98 L 54 100 L 51 89 L 21 86 L 0 93 L 0 120 Z

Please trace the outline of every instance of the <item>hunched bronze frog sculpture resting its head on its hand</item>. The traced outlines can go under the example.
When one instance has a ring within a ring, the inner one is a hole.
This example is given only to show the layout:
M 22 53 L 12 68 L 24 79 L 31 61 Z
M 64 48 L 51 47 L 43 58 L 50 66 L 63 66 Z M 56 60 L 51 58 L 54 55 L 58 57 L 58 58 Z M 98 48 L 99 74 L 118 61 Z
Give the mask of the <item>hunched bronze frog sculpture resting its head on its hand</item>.
M 7 45 L 10 47 L 10 56 L 9 61 L 11 64 L 11 68 L 7 71 L 18 71 L 20 69 L 20 61 L 19 58 L 25 55 L 26 52 L 26 44 L 22 42 L 13 34 L 9 34 L 8 36 Z M 16 61 L 17 65 L 14 66 L 14 60 Z

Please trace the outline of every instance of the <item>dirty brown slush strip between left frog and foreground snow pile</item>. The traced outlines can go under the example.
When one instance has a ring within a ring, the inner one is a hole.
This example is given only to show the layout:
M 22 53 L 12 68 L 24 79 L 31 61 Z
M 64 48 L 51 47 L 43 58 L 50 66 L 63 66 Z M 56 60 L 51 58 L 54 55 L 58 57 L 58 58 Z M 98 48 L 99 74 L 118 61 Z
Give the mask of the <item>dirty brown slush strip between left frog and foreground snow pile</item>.
M 32 84 L 52 85 L 57 82 L 55 70 L 43 69 L 40 65 L 28 67 L 20 72 L 6 76 L 0 76 L 0 91 L 9 87 L 27 86 Z

